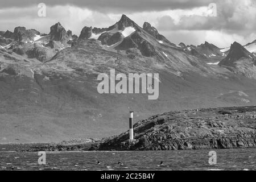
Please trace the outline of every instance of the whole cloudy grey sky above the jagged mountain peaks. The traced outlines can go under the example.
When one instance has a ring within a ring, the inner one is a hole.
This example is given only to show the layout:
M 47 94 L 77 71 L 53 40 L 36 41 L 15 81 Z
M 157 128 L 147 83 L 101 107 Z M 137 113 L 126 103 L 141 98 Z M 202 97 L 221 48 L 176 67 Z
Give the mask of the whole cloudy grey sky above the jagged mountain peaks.
M 255 0 L 0 0 L 0 31 L 24 26 L 48 34 L 60 22 L 79 35 L 84 26 L 109 27 L 122 14 L 139 26 L 150 23 L 175 44 L 225 48 L 256 39 Z

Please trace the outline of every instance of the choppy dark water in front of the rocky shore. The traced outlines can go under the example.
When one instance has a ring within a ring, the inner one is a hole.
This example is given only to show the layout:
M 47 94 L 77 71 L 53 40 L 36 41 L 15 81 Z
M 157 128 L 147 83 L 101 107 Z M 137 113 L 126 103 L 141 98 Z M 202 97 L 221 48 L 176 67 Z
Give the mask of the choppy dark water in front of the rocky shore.
M 214 150 L 214 166 L 209 151 L 46 152 L 46 165 L 38 164 L 38 152 L 2 151 L 0 170 L 256 170 L 256 148 Z

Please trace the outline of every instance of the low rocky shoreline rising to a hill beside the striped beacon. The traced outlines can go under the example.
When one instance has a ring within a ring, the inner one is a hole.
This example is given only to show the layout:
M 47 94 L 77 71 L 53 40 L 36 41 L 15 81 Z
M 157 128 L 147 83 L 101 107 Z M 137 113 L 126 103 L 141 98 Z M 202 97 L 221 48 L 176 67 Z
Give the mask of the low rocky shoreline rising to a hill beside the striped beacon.
M 129 132 L 102 139 L 31 144 L 19 151 L 200 150 L 256 147 L 256 106 L 171 111 L 135 123 Z

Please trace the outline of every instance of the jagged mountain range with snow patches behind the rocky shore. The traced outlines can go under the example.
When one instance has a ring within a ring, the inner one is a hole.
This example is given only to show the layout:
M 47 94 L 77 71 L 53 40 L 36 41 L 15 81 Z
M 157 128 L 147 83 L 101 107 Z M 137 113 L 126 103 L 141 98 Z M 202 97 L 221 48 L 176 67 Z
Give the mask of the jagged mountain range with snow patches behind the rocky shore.
M 176 45 L 126 15 L 79 36 L 60 23 L 49 34 L 0 31 L 0 143 L 108 137 L 170 110 L 256 104 L 255 41 L 222 49 Z M 99 94 L 99 73 L 159 73 L 159 98 Z

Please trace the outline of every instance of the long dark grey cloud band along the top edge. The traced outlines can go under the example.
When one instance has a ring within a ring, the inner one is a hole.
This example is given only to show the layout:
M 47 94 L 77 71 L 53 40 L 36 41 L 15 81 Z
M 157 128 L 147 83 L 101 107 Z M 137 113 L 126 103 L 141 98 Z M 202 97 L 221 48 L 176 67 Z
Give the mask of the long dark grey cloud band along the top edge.
M 162 11 L 170 9 L 191 9 L 194 7 L 207 6 L 211 0 L 0 0 L 0 9 L 8 7 L 28 7 L 38 3 L 47 6 L 72 5 L 81 8 L 101 11 L 104 13 L 134 13 L 141 11 Z

